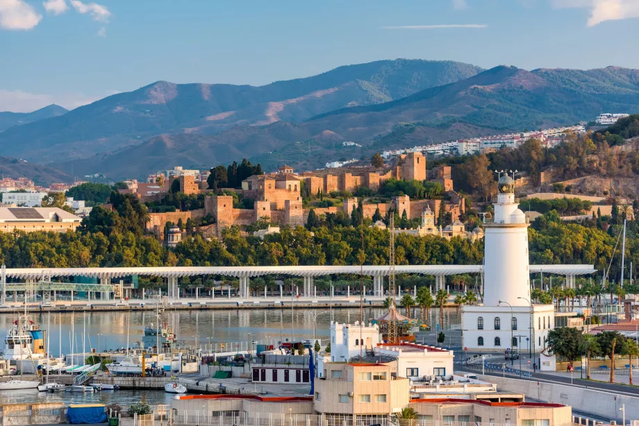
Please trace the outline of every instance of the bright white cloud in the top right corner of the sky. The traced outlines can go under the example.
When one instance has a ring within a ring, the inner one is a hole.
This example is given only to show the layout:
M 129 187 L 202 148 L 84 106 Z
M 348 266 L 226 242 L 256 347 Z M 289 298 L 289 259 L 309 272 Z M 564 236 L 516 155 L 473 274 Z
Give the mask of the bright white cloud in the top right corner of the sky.
M 583 8 L 590 10 L 588 26 L 606 21 L 639 17 L 637 0 L 551 0 L 555 8 Z

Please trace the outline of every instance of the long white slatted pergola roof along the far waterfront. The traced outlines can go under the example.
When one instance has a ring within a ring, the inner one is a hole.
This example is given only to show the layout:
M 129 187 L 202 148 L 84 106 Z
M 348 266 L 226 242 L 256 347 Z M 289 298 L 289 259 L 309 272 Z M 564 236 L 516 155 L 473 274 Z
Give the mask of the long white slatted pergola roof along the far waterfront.
M 596 272 L 593 265 L 531 265 L 530 273 L 550 273 L 565 275 L 567 282 L 574 282 L 576 275 L 587 275 Z M 313 278 L 333 274 L 355 274 L 373 277 L 373 295 L 382 297 L 384 294 L 384 277 L 389 275 L 387 265 L 374 266 L 158 266 L 144 268 L 5 268 L 1 269 L 0 303 L 5 302 L 6 278 L 17 278 L 26 282 L 51 280 L 60 277 L 88 277 L 99 278 L 100 284 L 110 284 L 112 280 L 131 275 L 167 278 L 169 284 L 169 298 L 178 298 L 177 279 L 196 275 L 223 275 L 240 278 L 240 298 L 249 297 L 249 278 L 263 275 L 291 275 L 304 277 L 303 295 L 315 297 Z M 397 265 L 395 273 L 414 273 L 435 276 L 436 289 L 445 288 L 446 275 L 465 273 L 481 273 L 482 265 Z M 80 285 L 80 284 L 78 284 Z

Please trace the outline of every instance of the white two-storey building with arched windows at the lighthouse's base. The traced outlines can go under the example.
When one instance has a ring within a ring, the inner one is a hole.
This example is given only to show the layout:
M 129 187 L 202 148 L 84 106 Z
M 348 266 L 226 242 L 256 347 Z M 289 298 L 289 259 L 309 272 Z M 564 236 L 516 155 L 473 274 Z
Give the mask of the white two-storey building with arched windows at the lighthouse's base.
M 469 351 L 499 352 L 511 348 L 522 355 L 530 349 L 538 353 L 546 347 L 548 332 L 554 327 L 554 307 L 533 305 L 531 312 L 529 306 L 513 306 L 511 313 L 508 305 L 465 305 L 461 322 L 463 346 Z

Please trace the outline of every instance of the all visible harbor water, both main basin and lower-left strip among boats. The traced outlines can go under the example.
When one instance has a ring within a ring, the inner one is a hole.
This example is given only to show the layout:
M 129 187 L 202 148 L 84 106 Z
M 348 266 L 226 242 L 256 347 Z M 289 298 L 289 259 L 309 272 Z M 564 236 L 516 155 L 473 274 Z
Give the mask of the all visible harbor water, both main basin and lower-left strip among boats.
M 404 309 L 401 309 L 404 313 Z M 365 307 L 363 317 L 366 322 L 385 314 L 383 308 Z M 419 309 L 413 309 L 413 317 L 419 318 Z M 144 335 L 144 327 L 156 324 L 155 312 L 76 312 L 72 313 L 40 313 L 31 312 L 33 321 L 40 329 L 47 330 L 50 319 L 51 326 L 47 332 L 50 338 L 51 355 L 60 353 L 68 355 L 72 351 L 72 330 L 74 330 L 74 353 L 81 352 L 83 330 L 85 334 L 85 350 L 115 350 L 126 347 L 127 329 L 129 348 L 139 348 Z M 49 318 L 50 315 L 50 318 Z M 199 351 L 242 350 L 249 347 L 249 342 L 271 343 L 278 341 L 299 341 L 315 339 L 326 346 L 330 336 L 330 323 L 355 323 L 360 320 L 359 307 L 339 309 L 241 309 L 241 310 L 201 310 L 174 311 L 167 310 L 163 314 L 163 322 L 174 325 L 176 340 L 186 348 Z M 458 324 L 460 313 L 455 308 L 445 308 L 444 328 Z M 0 332 L 6 336 L 13 325 L 13 314 L 0 314 Z M 435 325 L 439 321 L 439 312 L 431 308 L 429 323 Z M 72 327 L 72 322 L 74 327 Z M 197 339 L 197 340 L 196 340 Z M 232 343 L 232 345 L 229 345 Z M 425 342 L 435 344 L 435 342 Z M 225 345 L 224 347 L 222 345 Z M 233 347 L 235 346 L 235 347 Z M 255 349 L 255 347 L 253 347 Z M 55 375 L 51 376 L 55 380 Z M 171 394 L 164 391 L 127 390 L 102 391 L 97 393 L 39 393 L 37 390 L 0 391 L 0 404 L 18 404 L 31 402 L 65 402 L 65 403 L 100 403 L 117 402 L 122 406 L 144 401 L 148 404 L 170 404 Z

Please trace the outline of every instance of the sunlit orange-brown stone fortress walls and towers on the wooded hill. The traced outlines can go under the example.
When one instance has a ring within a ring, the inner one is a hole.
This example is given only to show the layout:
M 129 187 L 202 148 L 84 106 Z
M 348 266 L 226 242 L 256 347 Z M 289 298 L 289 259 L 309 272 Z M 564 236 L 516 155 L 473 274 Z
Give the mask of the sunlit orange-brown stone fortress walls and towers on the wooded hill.
M 351 214 L 353 208 L 358 205 L 359 200 L 351 196 L 344 198 L 340 206 L 304 207 L 301 195 L 303 187 L 306 187 L 307 193 L 311 194 L 311 196 L 334 192 L 352 194 L 361 187 L 379 191 L 384 182 L 391 178 L 440 182 L 445 190 L 445 198 L 447 200 L 411 200 L 410 197 L 403 195 L 394 196 L 385 203 L 366 203 L 364 201 L 365 217 L 372 218 L 377 209 L 379 209 L 382 216 L 385 216 L 392 209 L 400 215 L 406 212 L 408 219 L 422 219 L 422 222 L 424 222 L 432 220 L 425 219 L 424 215 L 434 217 L 433 212 L 440 211 L 441 203 L 444 203 L 444 211 L 451 214 L 453 221 L 457 221 L 460 215 L 465 212 L 463 198 L 453 191 L 450 167 L 438 167 L 429 173 L 426 171 L 426 159 L 422 153 L 408 153 L 400 155 L 390 168 L 349 167 L 296 174 L 291 167 L 283 166 L 276 173 L 250 176 L 242 181 L 241 189 L 233 189 L 238 195 L 254 200 L 253 209 L 233 207 L 233 196 L 231 195 L 211 195 L 206 196 L 204 209 L 191 210 L 189 212 L 151 213 L 151 220 L 147 223 L 147 229 L 153 231 L 158 237 L 163 238 L 167 221 L 176 223 L 179 219 L 187 221 L 188 219 L 200 219 L 204 216 L 210 216 L 210 219 L 213 220 L 214 225 L 210 230 L 210 235 L 213 237 L 219 237 L 222 230 L 232 225 L 245 226 L 265 218 L 278 225 L 304 225 L 311 208 L 315 210 L 317 215 L 338 213 L 340 210 L 345 214 Z M 138 194 L 138 196 L 140 198 L 155 198 L 164 192 L 163 189 L 169 188 L 173 180 L 179 181 L 180 191 L 185 194 L 210 192 L 210 190 L 205 189 L 206 180 L 197 182 L 195 176 L 186 175 L 169 178 L 162 188 L 156 185 L 156 192 Z M 140 185 L 152 186 L 152 184 L 138 184 L 138 187 Z M 410 233 L 417 233 L 417 235 L 430 233 L 446 237 L 470 237 L 470 232 L 465 232 L 463 225 L 461 225 L 460 229 L 459 225 L 460 223 L 456 222 L 446 229 L 438 229 L 433 225 L 429 227 L 431 230 L 428 232 L 426 232 L 426 227 L 424 226 L 415 230 L 406 230 L 406 232 L 410 231 Z

